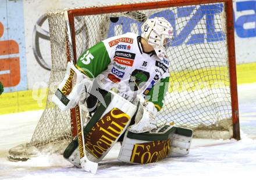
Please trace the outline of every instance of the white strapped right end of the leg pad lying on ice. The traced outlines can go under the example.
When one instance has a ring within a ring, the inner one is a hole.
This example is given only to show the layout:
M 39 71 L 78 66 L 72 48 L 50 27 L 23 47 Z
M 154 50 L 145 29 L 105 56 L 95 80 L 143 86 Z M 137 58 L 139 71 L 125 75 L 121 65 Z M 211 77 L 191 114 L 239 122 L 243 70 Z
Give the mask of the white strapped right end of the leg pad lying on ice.
M 169 157 L 183 157 L 189 155 L 192 137 L 193 130 L 177 127 L 176 133 L 173 135 Z

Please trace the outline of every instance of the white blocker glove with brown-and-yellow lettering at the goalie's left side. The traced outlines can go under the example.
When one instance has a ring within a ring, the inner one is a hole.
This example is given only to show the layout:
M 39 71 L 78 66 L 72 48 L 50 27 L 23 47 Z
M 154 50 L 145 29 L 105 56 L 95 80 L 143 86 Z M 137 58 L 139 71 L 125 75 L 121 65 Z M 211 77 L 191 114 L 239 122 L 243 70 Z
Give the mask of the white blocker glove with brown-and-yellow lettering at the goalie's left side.
M 62 110 L 74 108 L 90 92 L 93 82 L 70 62 L 67 63 L 65 78 L 62 80 L 52 101 Z

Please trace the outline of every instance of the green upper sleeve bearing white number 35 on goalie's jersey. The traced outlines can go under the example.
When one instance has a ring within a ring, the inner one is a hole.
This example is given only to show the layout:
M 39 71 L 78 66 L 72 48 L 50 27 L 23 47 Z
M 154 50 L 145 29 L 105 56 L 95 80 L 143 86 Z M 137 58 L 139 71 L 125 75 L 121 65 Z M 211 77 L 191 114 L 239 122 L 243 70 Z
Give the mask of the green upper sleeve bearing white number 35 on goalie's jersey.
M 111 59 L 106 47 L 103 42 L 99 42 L 80 55 L 76 67 L 89 78 L 95 78 L 108 68 L 109 63 Z

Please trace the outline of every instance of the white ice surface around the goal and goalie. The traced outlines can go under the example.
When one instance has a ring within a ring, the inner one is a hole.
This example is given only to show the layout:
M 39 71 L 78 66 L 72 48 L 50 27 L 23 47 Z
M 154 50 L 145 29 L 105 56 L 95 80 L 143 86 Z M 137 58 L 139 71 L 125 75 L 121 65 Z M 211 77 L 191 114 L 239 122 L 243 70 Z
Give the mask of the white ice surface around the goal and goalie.
M 29 142 L 42 111 L 0 116 L 0 179 L 254 179 L 256 170 L 256 83 L 239 86 L 241 141 L 193 139 L 187 157 L 131 165 L 116 160 L 116 144 L 96 175 L 84 172 L 61 155 L 26 162 L 8 161 L 9 148 Z

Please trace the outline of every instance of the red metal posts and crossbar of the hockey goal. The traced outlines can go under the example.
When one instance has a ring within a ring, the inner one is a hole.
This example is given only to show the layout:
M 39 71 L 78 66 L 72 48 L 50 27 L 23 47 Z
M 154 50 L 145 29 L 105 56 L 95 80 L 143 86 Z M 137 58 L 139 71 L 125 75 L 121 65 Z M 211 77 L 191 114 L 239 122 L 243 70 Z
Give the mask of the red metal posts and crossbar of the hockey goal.
M 233 138 L 240 139 L 240 126 L 239 126 L 239 107 L 238 107 L 238 96 L 237 96 L 237 78 L 236 78 L 236 56 L 234 46 L 234 23 L 233 23 L 233 1 L 232 0 L 169 0 L 159 2 L 143 2 L 126 5 L 112 5 L 102 7 L 91 7 L 86 9 L 70 9 L 67 10 L 68 20 L 70 25 L 71 41 L 73 45 L 73 56 L 76 63 L 76 41 L 75 41 L 75 29 L 74 29 L 74 18 L 76 16 L 87 16 L 93 14 L 104 14 L 104 13 L 117 13 L 117 12 L 128 12 L 130 10 L 146 10 L 155 8 L 169 8 L 174 6 L 186 6 L 186 5 L 199 5 L 206 3 L 225 3 L 226 11 L 226 36 L 227 36 L 227 51 L 229 58 L 229 77 L 230 77 L 230 95 L 231 95 L 231 106 L 232 106 L 232 122 L 233 122 Z M 69 59 L 69 50 L 67 48 L 67 58 Z M 72 135 L 77 135 L 76 119 L 80 118 L 79 109 L 71 109 L 70 116 L 72 119 Z

